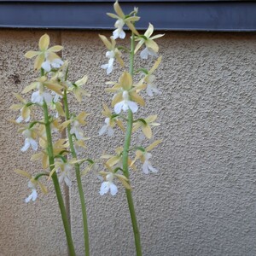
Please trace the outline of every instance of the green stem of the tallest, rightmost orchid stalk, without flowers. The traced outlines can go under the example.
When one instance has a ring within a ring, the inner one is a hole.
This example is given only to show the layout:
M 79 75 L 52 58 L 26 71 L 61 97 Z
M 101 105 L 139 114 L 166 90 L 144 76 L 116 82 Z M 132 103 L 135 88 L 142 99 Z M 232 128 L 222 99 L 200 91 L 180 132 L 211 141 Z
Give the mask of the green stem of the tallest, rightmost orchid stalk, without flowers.
M 134 63 L 134 49 L 135 49 L 135 38 L 134 34 L 131 34 L 131 52 L 130 52 L 130 73 L 131 76 L 133 76 L 133 63 Z M 124 151 L 123 151 L 123 172 L 125 177 L 129 179 L 129 166 L 128 166 L 128 153 L 130 149 L 130 143 L 131 143 L 131 131 L 132 131 L 132 124 L 133 124 L 133 114 L 131 112 L 131 109 L 128 110 L 128 120 L 127 120 L 127 127 L 125 131 L 125 145 L 124 145 Z M 135 246 L 136 246 L 136 252 L 137 256 L 142 256 L 142 247 L 141 247 L 141 238 L 140 238 L 140 232 L 137 225 L 137 218 L 136 218 L 136 212 L 132 200 L 131 195 L 131 189 L 125 189 L 126 192 L 126 198 L 128 202 L 128 207 L 131 215 L 131 224 L 133 228 L 133 234 L 134 234 L 134 240 L 135 240 Z

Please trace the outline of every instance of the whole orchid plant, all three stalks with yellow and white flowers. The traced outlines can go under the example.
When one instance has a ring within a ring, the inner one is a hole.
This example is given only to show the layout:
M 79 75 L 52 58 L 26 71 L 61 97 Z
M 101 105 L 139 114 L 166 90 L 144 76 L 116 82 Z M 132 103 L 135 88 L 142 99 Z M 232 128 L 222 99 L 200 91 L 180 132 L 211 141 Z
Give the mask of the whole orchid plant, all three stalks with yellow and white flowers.
M 90 93 L 82 88 L 87 82 L 87 76 L 76 82 L 68 80 L 69 64 L 56 54 L 63 48 L 61 45 L 49 48 L 47 34 L 39 39 L 37 51 L 30 50 L 25 55 L 28 59 L 35 57 L 34 69 L 39 73 L 38 79 L 22 90 L 21 94 L 26 95 L 25 98 L 15 93 L 19 103 L 11 106 L 11 109 L 20 113 L 13 122 L 19 126 L 18 131 L 25 138 L 24 146 L 20 148 L 21 152 L 40 150 L 37 154 L 32 154 L 31 160 L 42 162 L 42 172 L 29 173 L 20 169 L 15 170 L 16 173 L 28 179 L 28 188 L 31 190 L 31 194 L 26 197 L 25 201 L 26 203 L 36 201 L 38 188 L 46 194 L 48 189 L 45 183 L 52 180 L 67 236 L 69 254 L 72 256 L 75 255 L 75 249 L 60 186 L 61 183 L 67 187 L 72 185 L 72 172 L 75 172 L 79 189 L 84 224 L 85 256 L 90 255 L 90 247 L 81 177 L 90 169 L 98 168 L 96 162 L 102 161 L 103 169 L 98 175 L 102 179 L 100 195 L 105 195 L 108 192 L 111 195 L 116 195 L 118 193 L 117 180 L 124 186 L 131 214 L 136 251 L 139 256 L 142 255 L 142 247 L 131 194 L 130 172 L 136 171 L 138 166 L 145 174 L 158 172 L 150 162 L 151 150 L 161 143 L 161 140 L 152 141 L 152 128 L 160 125 L 155 122 L 157 115 L 149 115 L 146 118 L 135 118 L 135 116 L 139 112 L 139 108 L 146 105 L 143 98 L 145 95 L 150 97 L 160 95 L 160 90 L 155 84 L 154 72 L 160 65 L 161 56 L 157 58 L 159 46 L 154 39 L 162 37 L 163 34 L 152 36 L 154 26 L 150 23 L 144 34 L 139 33 L 135 26 L 140 19 L 137 16 L 137 8 L 125 15 L 119 3 L 116 2 L 113 4 L 113 9 L 115 14 L 108 14 L 116 20 L 113 35 L 109 39 L 100 35 L 103 44 L 108 49 L 106 53 L 108 63 L 103 64 L 102 68 L 106 69 L 107 74 L 112 73 L 116 66 L 115 61 L 117 61 L 123 68 L 123 72 L 117 82 L 107 83 L 112 85 L 107 92 L 113 94 L 111 102 L 113 110 L 109 108 L 108 104 L 103 104 L 102 114 L 105 117 L 105 122 L 98 133 L 99 136 L 106 134 L 113 137 L 115 129 L 120 129 L 122 134 L 125 134 L 122 146 L 116 148 L 113 154 L 103 154 L 101 160 L 79 159 L 78 152 L 81 148 L 85 148 L 84 142 L 89 139 L 84 137 L 83 128 L 89 114 L 85 111 L 71 113 L 68 99 L 70 96 L 74 96 L 78 102 L 81 102 L 83 96 L 90 96 Z M 124 26 L 127 26 L 131 32 L 129 47 L 119 45 L 116 41 L 116 39 L 126 37 L 127 32 L 124 31 Z M 143 50 L 141 50 L 142 48 Z M 135 58 L 139 51 L 143 60 L 150 61 L 147 67 L 136 67 Z M 125 54 L 129 55 L 129 68 L 125 66 L 123 60 Z M 148 142 L 143 142 L 145 140 L 149 140 L 148 146 L 145 146 L 148 144 Z M 141 161 L 141 164 L 138 164 L 138 160 Z

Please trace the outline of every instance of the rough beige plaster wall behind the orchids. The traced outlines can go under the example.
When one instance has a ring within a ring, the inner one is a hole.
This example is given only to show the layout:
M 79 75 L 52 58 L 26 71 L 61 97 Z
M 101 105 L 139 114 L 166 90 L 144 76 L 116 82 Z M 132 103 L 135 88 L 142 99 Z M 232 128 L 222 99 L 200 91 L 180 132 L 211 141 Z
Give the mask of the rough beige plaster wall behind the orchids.
M 39 168 L 21 154 L 22 138 L 8 119 L 13 90 L 32 79 L 32 64 L 23 53 L 34 49 L 41 31 L 0 31 L 1 61 L 1 218 L 0 255 L 67 255 L 55 195 L 39 195 L 25 205 L 26 180 L 16 167 Z M 108 32 L 106 32 L 108 34 Z M 65 47 L 70 73 L 90 75 L 88 102 L 76 106 L 90 115 L 90 156 L 113 150 L 108 137 L 97 137 L 103 124 L 103 89 L 109 78 L 99 69 L 106 62 L 97 32 L 49 32 L 53 44 Z M 157 113 L 157 174 L 131 174 L 137 218 L 146 256 L 255 255 L 255 34 L 170 32 L 159 39 L 163 63 L 157 73 L 162 95 L 147 102 Z M 135 143 L 133 141 L 133 143 Z M 100 145 L 100 149 L 95 145 Z M 113 152 L 113 151 L 112 151 Z M 99 196 L 100 182 L 84 178 L 91 255 L 135 255 L 125 194 Z M 50 189 L 53 192 L 53 189 Z M 82 223 L 75 183 L 70 190 L 73 238 L 83 255 Z M 53 224 L 53 227 L 51 226 Z

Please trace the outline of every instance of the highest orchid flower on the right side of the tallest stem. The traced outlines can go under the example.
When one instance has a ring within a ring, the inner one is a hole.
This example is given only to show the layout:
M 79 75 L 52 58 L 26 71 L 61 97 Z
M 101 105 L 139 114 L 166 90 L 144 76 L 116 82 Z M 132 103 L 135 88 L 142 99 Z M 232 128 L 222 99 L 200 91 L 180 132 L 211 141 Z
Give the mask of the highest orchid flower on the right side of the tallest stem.
M 164 34 L 155 35 L 154 37 L 151 37 L 151 35 L 154 32 L 154 26 L 149 23 L 147 31 L 144 33 L 143 36 L 138 36 L 137 41 L 138 44 L 135 48 L 135 53 L 137 53 L 137 50 L 141 48 L 143 44 L 146 45 L 146 48 L 143 49 L 140 56 L 142 59 L 148 59 L 148 55 L 156 55 L 159 51 L 159 46 L 154 42 L 154 39 L 161 38 L 164 36 Z M 150 38 L 151 37 L 151 38 Z

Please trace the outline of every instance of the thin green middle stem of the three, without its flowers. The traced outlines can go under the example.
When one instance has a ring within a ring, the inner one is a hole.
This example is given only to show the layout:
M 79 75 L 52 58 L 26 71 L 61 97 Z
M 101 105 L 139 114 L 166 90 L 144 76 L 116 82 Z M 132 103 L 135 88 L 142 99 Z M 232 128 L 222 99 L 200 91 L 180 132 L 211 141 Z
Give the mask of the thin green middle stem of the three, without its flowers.
M 69 108 L 68 108 L 68 103 L 67 103 L 67 90 L 64 90 L 63 103 L 64 103 L 64 108 L 65 108 L 66 120 L 69 120 L 70 113 L 69 113 Z M 67 137 L 68 137 L 71 153 L 72 153 L 73 158 L 77 159 L 77 154 L 74 149 L 73 139 L 72 139 L 70 130 L 71 130 L 70 125 L 67 125 Z M 89 232 L 88 232 L 84 191 L 83 191 L 83 186 L 82 186 L 82 181 L 81 181 L 79 164 L 75 164 L 74 166 L 75 166 L 76 178 L 77 178 L 77 183 L 78 183 L 78 188 L 79 188 L 79 198 L 80 198 L 80 202 L 81 202 L 81 209 L 82 209 L 82 216 L 83 216 L 85 256 L 89 256 L 90 255 Z

